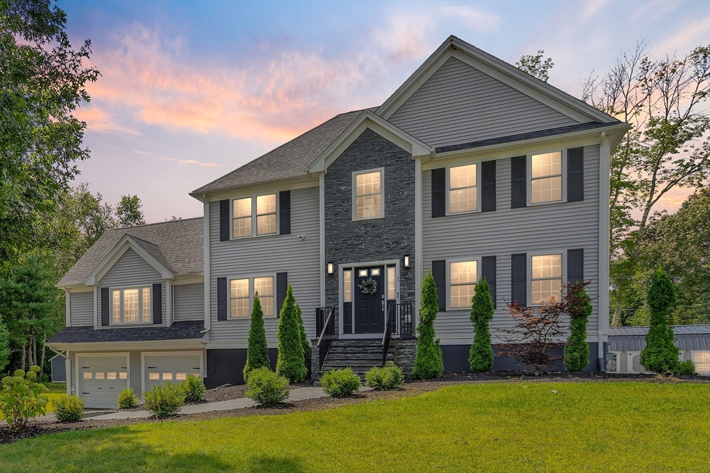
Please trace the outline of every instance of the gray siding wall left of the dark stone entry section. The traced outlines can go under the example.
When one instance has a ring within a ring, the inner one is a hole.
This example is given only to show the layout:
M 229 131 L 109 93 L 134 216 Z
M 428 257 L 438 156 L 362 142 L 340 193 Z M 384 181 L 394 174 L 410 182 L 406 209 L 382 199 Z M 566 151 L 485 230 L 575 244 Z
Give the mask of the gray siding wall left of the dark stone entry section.
M 291 191 L 290 235 L 219 241 L 219 202 L 209 204 L 210 330 L 209 343 L 244 344 L 249 319 L 217 320 L 217 278 L 258 277 L 288 272 L 288 284 L 303 312 L 308 338 L 315 338 L 315 308 L 320 306 L 319 189 Z M 305 234 L 300 239 L 297 235 Z M 229 304 L 229 302 L 228 302 Z M 278 318 L 264 318 L 266 338 L 277 345 Z

